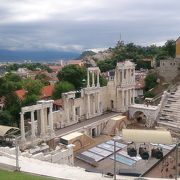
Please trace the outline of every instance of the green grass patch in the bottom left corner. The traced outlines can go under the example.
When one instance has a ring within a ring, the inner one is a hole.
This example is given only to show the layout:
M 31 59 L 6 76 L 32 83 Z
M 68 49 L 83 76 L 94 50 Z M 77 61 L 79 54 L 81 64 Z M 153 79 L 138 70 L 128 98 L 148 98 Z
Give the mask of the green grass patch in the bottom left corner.
M 22 172 L 9 172 L 0 170 L 0 179 L 2 180 L 54 180 L 54 178 L 47 178 L 42 176 L 35 176 Z

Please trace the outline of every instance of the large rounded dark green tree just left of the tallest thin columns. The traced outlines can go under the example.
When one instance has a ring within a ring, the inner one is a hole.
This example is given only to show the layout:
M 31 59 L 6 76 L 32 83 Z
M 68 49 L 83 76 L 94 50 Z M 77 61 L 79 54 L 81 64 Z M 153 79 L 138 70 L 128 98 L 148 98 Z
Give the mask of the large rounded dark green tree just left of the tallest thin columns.
M 57 77 L 59 81 L 68 81 L 76 90 L 79 90 L 84 86 L 83 80 L 87 77 L 87 70 L 85 67 L 67 65 L 58 72 Z

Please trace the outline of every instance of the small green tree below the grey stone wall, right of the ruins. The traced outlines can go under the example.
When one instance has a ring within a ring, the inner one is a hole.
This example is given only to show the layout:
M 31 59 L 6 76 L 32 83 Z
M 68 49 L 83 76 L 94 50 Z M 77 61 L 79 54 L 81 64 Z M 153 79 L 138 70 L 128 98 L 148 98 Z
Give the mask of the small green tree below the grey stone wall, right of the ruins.
M 157 76 L 156 73 L 150 71 L 145 78 L 145 90 L 148 91 L 157 85 Z

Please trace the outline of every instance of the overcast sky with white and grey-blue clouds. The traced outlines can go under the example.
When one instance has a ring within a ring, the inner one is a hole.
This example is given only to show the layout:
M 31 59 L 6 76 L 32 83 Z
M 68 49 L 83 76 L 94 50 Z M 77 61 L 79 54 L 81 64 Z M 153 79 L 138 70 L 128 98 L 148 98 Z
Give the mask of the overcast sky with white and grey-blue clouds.
M 0 0 L 0 48 L 65 50 L 180 36 L 180 0 Z

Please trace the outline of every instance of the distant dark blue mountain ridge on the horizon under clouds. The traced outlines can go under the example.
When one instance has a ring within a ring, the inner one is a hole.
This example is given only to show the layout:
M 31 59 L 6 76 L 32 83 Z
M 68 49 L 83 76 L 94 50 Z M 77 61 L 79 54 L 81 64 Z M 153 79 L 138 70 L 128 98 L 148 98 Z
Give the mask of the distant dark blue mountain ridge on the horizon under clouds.
M 33 62 L 57 61 L 60 59 L 68 60 L 75 59 L 79 56 L 76 52 L 61 52 L 61 51 L 11 51 L 0 49 L 0 62 L 22 62 L 24 60 L 32 60 Z

